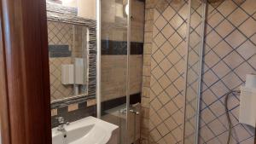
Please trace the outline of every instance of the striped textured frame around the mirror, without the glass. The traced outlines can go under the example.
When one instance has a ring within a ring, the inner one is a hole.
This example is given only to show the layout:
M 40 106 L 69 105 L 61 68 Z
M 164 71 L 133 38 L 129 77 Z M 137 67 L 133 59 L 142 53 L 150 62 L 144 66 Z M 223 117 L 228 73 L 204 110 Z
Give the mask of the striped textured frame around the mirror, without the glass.
M 74 95 L 73 97 L 51 101 L 51 109 L 67 107 L 70 104 L 80 103 L 96 98 L 96 20 L 84 19 L 77 15 L 77 9 L 64 7 L 57 3 L 46 3 L 47 20 L 67 24 L 86 26 L 89 32 L 88 47 L 88 85 L 87 95 Z

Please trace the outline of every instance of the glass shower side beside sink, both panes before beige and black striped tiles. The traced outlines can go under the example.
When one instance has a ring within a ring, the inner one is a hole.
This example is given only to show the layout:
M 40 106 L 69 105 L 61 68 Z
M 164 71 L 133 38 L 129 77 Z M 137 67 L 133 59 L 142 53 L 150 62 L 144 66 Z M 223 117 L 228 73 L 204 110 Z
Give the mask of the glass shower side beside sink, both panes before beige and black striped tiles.
M 97 117 L 119 125 L 119 143 L 140 136 L 144 3 L 98 0 Z

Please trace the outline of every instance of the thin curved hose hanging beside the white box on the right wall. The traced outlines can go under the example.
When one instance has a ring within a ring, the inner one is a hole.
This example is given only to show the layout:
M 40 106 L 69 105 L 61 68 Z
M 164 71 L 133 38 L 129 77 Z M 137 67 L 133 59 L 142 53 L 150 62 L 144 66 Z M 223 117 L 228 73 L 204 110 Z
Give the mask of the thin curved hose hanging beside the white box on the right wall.
M 228 108 L 228 101 L 229 101 L 229 97 L 231 94 L 232 95 L 240 94 L 240 90 L 232 90 L 232 91 L 228 92 L 227 94 L 225 94 L 225 112 L 226 112 L 226 116 L 228 118 L 228 124 L 229 124 L 229 135 L 228 135 L 227 144 L 230 144 L 230 138 L 231 138 L 231 132 L 232 132 L 232 123 L 230 120 L 230 113 L 229 113 L 229 108 Z

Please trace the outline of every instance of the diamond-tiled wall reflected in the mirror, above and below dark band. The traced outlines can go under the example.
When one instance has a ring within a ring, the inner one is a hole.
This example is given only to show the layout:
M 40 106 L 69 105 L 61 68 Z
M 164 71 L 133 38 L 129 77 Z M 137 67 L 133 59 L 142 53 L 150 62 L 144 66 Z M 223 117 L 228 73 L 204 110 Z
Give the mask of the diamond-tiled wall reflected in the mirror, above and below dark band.
M 48 42 L 53 45 L 72 46 L 72 25 L 61 22 L 48 21 Z M 72 85 L 61 84 L 61 65 L 71 64 L 71 57 L 49 58 L 49 79 L 51 101 L 60 100 L 73 95 Z

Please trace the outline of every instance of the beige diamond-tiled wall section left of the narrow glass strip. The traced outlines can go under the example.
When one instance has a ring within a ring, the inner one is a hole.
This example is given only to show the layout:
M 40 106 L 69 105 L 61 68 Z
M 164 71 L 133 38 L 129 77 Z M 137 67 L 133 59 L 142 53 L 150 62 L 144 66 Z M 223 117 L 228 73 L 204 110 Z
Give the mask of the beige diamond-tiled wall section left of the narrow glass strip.
M 151 53 L 149 143 L 183 141 L 183 80 L 188 3 L 155 3 Z

